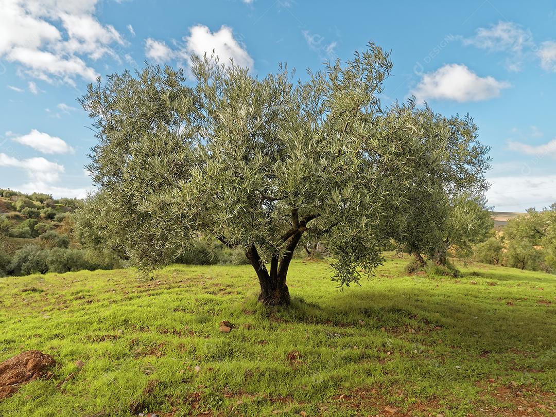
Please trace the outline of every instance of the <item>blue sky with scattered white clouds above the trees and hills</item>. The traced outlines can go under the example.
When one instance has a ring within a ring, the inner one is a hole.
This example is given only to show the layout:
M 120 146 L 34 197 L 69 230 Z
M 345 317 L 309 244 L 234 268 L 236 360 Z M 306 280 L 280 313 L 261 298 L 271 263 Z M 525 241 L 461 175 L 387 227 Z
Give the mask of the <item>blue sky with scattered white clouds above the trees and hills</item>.
M 534 4 L 534 6 L 533 6 Z M 95 143 L 76 98 L 143 62 L 211 51 L 264 76 L 303 77 L 368 41 L 391 49 L 383 103 L 414 94 L 470 113 L 492 146 L 489 202 L 556 201 L 556 3 L 300 0 L 0 0 L 0 188 L 82 197 Z

